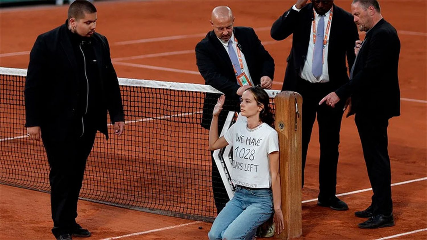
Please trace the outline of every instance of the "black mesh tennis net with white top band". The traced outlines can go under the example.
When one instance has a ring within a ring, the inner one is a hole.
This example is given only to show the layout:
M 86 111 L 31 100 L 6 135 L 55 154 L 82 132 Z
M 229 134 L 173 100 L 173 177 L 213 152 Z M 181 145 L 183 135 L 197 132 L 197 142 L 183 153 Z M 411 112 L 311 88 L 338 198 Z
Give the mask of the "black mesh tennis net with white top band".
M 43 144 L 29 140 L 24 127 L 25 75 L 23 69 L 0 68 L 0 183 L 49 192 Z M 219 92 L 199 84 L 124 78 L 120 89 L 125 135 L 105 141 L 97 133 L 80 198 L 212 221 L 211 152 L 208 130 L 200 124 L 206 93 L 217 98 Z

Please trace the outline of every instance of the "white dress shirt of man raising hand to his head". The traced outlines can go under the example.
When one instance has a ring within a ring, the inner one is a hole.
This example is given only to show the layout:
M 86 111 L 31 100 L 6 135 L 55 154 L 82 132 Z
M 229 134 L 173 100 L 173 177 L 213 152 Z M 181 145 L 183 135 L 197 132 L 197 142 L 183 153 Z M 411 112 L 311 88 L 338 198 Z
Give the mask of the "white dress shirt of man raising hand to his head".
M 292 9 L 296 10 L 296 11 L 300 11 L 301 9 L 297 9 L 296 6 L 292 6 Z M 315 17 L 316 17 L 316 30 L 317 30 L 317 25 L 319 24 L 319 20 L 320 20 L 320 16 L 319 14 L 317 14 L 316 11 L 315 12 Z M 330 10 L 325 13 L 324 19 L 325 19 L 325 32 L 326 32 L 326 28 L 328 26 L 328 20 L 329 20 L 329 14 L 330 14 Z M 308 50 L 307 50 L 307 57 L 305 59 L 305 63 L 304 63 L 304 67 L 302 69 L 301 75 L 300 77 L 302 79 L 305 79 L 309 82 L 312 83 L 326 83 L 329 81 L 329 71 L 328 71 L 328 49 L 329 49 L 329 37 L 330 37 L 330 29 L 332 27 L 332 22 L 333 22 L 333 17 L 330 21 L 330 26 L 329 26 L 329 33 L 328 33 L 328 38 L 326 39 L 326 46 L 325 46 L 325 56 L 324 57 L 324 62 L 323 62 L 323 66 L 322 66 L 322 75 L 319 78 L 316 78 L 313 73 L 311 72 L 311 68 L 313 66 L 313 53 L 314 53 L 314 43 L 313 43 L 313 21 L 311 22 L 311 31 L 310 31 L 310 42 L 308 43 Z M 323 36 L 325 36 L 325 32 L 323 33 Z M 323 43 L 323 39 L 322 39 L 322 43 Z

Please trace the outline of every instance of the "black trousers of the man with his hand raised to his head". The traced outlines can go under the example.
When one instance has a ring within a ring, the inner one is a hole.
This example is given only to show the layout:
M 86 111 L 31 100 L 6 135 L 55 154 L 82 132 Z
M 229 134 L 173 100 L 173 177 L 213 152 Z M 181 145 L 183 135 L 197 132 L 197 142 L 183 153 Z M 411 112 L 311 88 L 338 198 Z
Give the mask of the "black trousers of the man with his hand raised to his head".
M 334 108 L 319 101 L 336 87 L 328 83 L 310 83 L 299 78 L 297 92 L 302 95 L 302 186 L 304 186 L 304 168 L 307 159 L 313 124 L 319 124 L 319 200 L 327 201 L 336 194 L 336 169 L 338 165 L 339 131 L 343 114 L 344 101 Z

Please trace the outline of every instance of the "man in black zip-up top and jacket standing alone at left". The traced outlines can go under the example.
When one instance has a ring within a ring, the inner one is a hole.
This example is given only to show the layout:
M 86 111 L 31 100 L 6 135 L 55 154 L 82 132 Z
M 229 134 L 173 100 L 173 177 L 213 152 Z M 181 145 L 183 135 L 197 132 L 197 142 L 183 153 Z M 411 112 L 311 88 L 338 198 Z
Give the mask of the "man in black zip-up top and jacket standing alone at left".
M 96 21 L 92 3 L 72 3 L 66 22 L 35 41 L 25 82 L 27 135 L 46 149 L 52 233 L 61 240 L 91 235 L 76 223 L 86 159 L 97 130 L 108 139 L 107 110 L 116 135 L 125 125 L 108 41 L 95 32 Z

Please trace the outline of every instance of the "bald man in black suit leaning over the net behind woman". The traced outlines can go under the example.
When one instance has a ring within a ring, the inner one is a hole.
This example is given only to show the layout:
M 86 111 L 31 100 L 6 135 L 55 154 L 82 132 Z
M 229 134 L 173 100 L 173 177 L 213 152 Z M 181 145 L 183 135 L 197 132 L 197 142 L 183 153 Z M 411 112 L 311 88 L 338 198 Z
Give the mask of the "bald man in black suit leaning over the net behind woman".
M 205 84 L 225 94 L 225 104 L 219 116 L 222 130 L 228 111 L 240 111 L 240 96 L 251 86 L 272 87 L 274 60 L 249 27 L 234 27 L 234 16 L 227 6 L 213 9 L 213 31 L 196 45 L 196 60 Z M 206 94 L 202 127 L 209 129 L 212 110 L 218 94 Z M 218 213 L 229 198 L 212 157 L 212 188 Z

